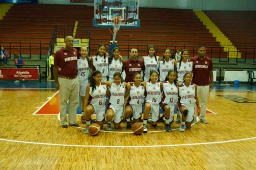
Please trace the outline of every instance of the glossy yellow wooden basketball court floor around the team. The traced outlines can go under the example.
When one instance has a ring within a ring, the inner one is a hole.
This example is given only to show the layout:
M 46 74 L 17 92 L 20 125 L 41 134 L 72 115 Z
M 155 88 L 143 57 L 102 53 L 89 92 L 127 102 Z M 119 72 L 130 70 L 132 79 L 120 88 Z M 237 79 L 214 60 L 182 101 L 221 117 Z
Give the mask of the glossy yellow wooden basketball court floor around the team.
M 0 169 L 255 169 L 256 88 L 210 92 L 208 124 L 180 132 L 163 123 L 134 135 L 120 130 L 98 136 L 61 128 L 55 89 L 0 88 Z

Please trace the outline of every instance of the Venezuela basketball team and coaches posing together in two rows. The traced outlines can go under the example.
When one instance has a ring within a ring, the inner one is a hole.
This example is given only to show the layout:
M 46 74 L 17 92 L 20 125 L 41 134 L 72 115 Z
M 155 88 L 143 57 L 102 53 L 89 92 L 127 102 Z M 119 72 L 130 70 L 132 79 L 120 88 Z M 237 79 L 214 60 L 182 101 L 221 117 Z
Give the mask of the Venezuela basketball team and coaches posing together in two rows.
M 144 133 L 148 132 L 148 126 L 155 128 L 162 120 L 165 130 L 171 132 L 177 108 L 175 121 L 181 124 L 181 132 L 198 123 L 197 116 L 201 123 L 208 123 L 206 104 L 208 93 L 213 89 L 213 67 L 204 45 L 198 47 L 195 57 L 190 56 L 189 50 L 182 50 L 179 60 L 171 58 L 169 48 L 163 50 L 162 56 L 156 56 L 154 45 L 148 46 L 148 56 L 140 60 L 138 50 L 132 48 L 129 59 L 124 61 L 118 47 L 113 48 L 109 56 L 105 45 L 100 44 L 96 56 L 90 57 L 87 47 L 82 46 L 79 51 L 73 48 L 72 36 L 65 38 L 65 44 L 55 53 L 53 69 L 62 128 L 80 126 L 76 121 L 79 95 L 81 122 L 86 124 L 84 133 L 89 132 L 93 121 L 101 129 L 106 123 L 106 130 L 112 131 L 119 129 L 123 120 L 126 120 L 126 129 L 131 129 L 133 123 L 143 122 Z M 189 60 L 189 57 L 192 58 Z M 91 119 L 92 114 L 96 114 L 96 120 Z

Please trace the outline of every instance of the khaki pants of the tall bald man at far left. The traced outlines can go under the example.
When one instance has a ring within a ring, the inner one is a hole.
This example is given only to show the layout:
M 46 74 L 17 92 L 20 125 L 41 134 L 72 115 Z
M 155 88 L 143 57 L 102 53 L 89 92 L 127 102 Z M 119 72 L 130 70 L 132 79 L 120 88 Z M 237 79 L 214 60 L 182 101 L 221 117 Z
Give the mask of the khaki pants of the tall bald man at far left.
M 66 105 L 69 100 L 69 125 L 76 123 L 76 108 L 79 104 L 79 81 L 78 78 L 59 80 L 59 102 L 61 125 L 67 125 Z

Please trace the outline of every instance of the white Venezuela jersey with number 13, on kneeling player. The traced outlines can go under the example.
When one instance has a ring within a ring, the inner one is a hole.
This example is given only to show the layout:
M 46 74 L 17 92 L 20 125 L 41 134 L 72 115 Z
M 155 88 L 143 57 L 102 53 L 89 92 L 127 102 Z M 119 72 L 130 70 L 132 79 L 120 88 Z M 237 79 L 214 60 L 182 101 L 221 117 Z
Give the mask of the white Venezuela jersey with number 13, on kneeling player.
M 178 88 L 174 82 L 172 84 L 169 81 L 163 82 L 163 99 L 162 101 L 166 104 L 175 104 L 178 102 Z

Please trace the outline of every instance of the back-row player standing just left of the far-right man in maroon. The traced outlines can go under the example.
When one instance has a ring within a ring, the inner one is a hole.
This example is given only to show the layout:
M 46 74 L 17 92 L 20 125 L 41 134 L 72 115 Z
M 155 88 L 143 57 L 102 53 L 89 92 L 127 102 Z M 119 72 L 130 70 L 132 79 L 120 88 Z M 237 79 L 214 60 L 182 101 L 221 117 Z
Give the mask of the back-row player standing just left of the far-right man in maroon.
M 188 60 L 189 50 L 184 49 L 181 52 L 181 59 L 177 62 L 178 82 L 183 83 L 183 77 L 186 73 L 192 73 L 193 62 Z M 196 120 L 196 119 L 195 119 Z M 177 113 L 176 123 L 180 123 L 180 111 Z

